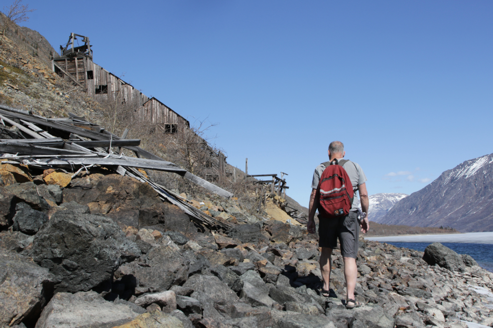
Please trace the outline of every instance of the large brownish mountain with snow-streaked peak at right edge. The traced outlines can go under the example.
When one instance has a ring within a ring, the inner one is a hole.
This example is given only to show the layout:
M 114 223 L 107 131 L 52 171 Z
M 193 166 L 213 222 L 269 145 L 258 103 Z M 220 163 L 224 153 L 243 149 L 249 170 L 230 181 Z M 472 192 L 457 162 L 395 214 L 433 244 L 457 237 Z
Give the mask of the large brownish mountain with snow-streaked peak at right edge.
M 443 172 L 395 204 L 380 223 L 493 231 L 493 154 Z

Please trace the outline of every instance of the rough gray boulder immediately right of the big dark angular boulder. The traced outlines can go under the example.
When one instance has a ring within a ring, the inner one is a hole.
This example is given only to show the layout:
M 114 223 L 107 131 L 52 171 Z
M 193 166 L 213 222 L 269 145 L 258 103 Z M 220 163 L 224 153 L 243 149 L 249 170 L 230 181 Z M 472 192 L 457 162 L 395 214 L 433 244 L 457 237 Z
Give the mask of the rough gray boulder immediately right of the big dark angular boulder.
M 164 244 L 154 246 L 147 253 L 145 262 L 124 264 L 115 277 L 133 275 L 137 278 L 138 287 L 147 287 L 151 292 L 165 291 L 181 284 L 187 277 L 188 264 L 176 247 Z

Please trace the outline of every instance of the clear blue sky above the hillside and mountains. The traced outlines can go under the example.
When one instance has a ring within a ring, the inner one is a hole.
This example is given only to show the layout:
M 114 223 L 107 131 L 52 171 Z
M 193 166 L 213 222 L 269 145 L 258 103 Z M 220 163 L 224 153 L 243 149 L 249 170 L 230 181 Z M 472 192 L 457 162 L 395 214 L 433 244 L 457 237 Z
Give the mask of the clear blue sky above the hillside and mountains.
M 412 193 L 493 153 L 493 2 L 32 0 L 24 26 L 94 61 L 193 124 L 228 162 L 286 172 L 307 205 L 340 140 L 370 194 Z

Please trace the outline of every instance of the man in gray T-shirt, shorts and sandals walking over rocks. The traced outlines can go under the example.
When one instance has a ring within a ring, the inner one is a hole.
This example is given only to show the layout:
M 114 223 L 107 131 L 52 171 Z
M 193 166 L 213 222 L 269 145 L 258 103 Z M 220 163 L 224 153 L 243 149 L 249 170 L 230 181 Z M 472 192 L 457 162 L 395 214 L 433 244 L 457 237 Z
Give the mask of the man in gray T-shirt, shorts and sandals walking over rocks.
M 342 159 L 346 155 L 343 143 L 340 141 L 331 142 L 329 145 L 328 154 L 329 162 L 331 164 L 336 164 L 337 162 L 342 161 Z M 326 167 L 327 166 L 325 164 L 320 164 L 315 168 L 315 172 L 313 173 L 313 190 L 310 195 L 310 208 L 307 226 L 308 232 L 311 234 L 315 233 L 314 216 L 319 205 L 318 197 L 316 199 L 317 188 L 319 185 L 320 177 L 322 176 L 322 173 Z M 359 164 L 351 161 L 343 163 L 342 167 L 348 173 L 351 184 L 353 186 L 353 190 L 359 190 L 360 192 L 361 208 L 363 212 L 368 213 L 369 201 L 367 187 L 365 184 L 365 182 L 367 181 L 367 177 L 363 172 L 363 169 L 360 167 Z M 368 217 L 358 223 L 358 203 L 358 198 L 354 197 L 349 214 L 346 216 L 330 219 L 319 218 L 319 247 L 322 247 L 322 253 L 320 254 L 320 270 L 322 271 L 322 278 L 324 282 L 321 293 L 324 297 L 335 297 L 335 295 L 330 295 L 329 293 L 329 281 L 330 271 L 332 269 L 332 249 L 337 246 L 337 239 L 339 238 L 339 243 L 341 245 L 341 254 L 344 258 L 344 276 L 346 278 L 347 290 L 346 307 L 348 309 L 353 309 L 355 307 L 361 306 L 361 303 L 355 300 L 356 278 L 358 275 L 358 268 L 356 266 L 356 256 L 358 255 L 358 238 L 360 226 L 363 233 L 367 233 L 370 228 Z

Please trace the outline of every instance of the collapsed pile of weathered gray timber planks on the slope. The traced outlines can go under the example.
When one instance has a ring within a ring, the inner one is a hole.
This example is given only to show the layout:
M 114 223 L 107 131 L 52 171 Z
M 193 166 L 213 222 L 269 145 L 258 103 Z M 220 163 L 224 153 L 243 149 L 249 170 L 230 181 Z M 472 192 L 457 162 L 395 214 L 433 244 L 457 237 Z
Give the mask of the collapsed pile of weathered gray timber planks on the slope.
M 8 157 L 13 164 L 40 169 L 59 168 L 71 172 L 71 177 L 82 170 L 88 171 L 94 165 L 110 167 L 123 176 L 147 182 L 160 197 L 177 205 L 202 224 L 223 229 L 229 227 L 227 223 L 197 210 L 186 198 L 150 181 L 145 171 L 139 168 L 175 172 L 223 197 L 231 197 L 232 193 L 141 149 L 138 147 L 140 140 L 119 138 L 103 127 L 73 114 L 70 114 L 70 118 L 45 118 L 4 105 L 0 105 L 0 123 L 1 134 L 12 138 L 1 139 L 0 152 L 7 154 L 3 157 Z M 112 147 L 133 151 L 137 158 L 114 152 Z

